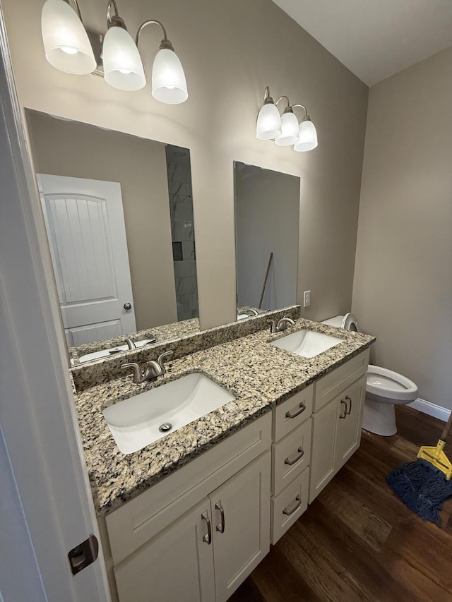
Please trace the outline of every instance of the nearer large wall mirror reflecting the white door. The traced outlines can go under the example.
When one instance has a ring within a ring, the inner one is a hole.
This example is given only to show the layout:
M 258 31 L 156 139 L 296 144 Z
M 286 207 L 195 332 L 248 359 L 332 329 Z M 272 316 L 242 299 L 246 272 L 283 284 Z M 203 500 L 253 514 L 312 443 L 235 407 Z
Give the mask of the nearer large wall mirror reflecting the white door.
M 26 114 L 68 346 L 198 330 L 189 150 Z

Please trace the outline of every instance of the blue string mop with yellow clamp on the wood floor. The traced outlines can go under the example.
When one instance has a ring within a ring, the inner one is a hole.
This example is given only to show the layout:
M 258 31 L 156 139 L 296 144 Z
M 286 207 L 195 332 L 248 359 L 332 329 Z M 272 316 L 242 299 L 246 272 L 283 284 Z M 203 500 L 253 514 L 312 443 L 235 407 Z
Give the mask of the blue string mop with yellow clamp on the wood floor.
M 386 477 L 398 497 L 424 520 L 441 526 L 439 512 L 452 495 L 452 463 L 444 453 L 452 412 L 436 447 L 420 447 L 415 462 L 403 464 Z

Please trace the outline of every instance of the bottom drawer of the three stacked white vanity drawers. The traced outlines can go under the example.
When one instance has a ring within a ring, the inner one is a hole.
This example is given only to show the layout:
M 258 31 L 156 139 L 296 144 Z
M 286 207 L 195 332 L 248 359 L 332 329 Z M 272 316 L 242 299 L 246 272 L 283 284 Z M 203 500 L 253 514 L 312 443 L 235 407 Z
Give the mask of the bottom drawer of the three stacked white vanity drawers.
M 271 543 L 276 543 L 308 507 L 309 468 L 271 498 Z

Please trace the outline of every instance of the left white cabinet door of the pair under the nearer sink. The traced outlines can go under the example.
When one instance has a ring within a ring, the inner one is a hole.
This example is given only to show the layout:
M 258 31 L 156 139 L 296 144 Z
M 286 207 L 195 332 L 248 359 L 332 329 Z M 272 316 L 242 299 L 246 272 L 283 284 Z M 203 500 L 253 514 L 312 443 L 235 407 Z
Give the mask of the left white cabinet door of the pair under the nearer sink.
M 206 518 L 203 518 L 206 517 Z M 121 602 L 215 600 L 210 500 L 174 521 L 114 567 Z

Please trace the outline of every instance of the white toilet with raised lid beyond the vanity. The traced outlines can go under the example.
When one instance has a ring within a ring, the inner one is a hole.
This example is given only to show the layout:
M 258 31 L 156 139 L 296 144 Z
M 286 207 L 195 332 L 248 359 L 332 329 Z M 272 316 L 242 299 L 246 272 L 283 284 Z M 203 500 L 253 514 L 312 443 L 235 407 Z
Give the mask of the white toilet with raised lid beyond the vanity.
M 336 315 L 323 324 L 360 332 L 355 315 Z M 417 386 L 409 378 L 379 366 L 367 370 L 366 404 L 362 428 L 386 437 L 397 433 L 394 405 L 409 404 L 417 398 Z

